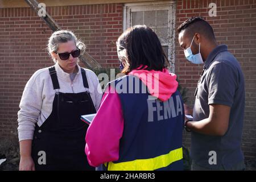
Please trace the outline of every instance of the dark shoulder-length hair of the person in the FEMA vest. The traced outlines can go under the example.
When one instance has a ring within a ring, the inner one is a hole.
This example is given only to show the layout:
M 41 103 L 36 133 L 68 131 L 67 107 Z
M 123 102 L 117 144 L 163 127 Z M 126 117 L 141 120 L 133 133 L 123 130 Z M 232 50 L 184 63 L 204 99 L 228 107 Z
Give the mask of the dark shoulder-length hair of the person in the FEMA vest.
M 155 32 L 146 25 L 128 28 L 117 40 L 117 49 L 127 50 L 125 68 L 122 73 L 128 73 L 140 65 L 147 65 L 146 70 L 162 71 L 170 63 L 163 51 L 162 45 Z

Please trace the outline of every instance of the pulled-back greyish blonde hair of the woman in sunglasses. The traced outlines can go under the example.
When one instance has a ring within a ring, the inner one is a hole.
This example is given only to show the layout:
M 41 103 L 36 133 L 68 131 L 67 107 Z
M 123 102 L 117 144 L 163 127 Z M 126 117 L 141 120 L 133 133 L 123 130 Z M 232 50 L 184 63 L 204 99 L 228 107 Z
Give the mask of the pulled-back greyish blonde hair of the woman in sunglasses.
M 85 52 L 85 44 L 81 42 L 80 39 L 76 38 L 76 35 L 69 30 L 59 30 L 52 33 L 51 37 L 48 39 L 48 53 L 51 55 L 51 52 L 57 52 L 59 49 L 60 43 L 65 43 L 70 40 L 73 40 L 76 44 L 76 47 L 81 50 L 81 55 Z M 53 61 L 56 63 L 56 60 L 53 59 Z

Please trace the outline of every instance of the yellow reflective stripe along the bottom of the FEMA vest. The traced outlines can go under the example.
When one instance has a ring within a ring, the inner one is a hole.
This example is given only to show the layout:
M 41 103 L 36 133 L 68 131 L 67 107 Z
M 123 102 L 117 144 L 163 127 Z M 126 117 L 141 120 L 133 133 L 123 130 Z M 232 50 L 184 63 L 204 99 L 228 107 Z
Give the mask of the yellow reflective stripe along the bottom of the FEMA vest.
M 159 168 L 167 167 L 181 159 L 183 159 L 182 147 L 155 158 L 137 159 L 122 163 L 109 162 L 105 163 L 105 166 L 108 166 L 108 171 L 154 171 Z

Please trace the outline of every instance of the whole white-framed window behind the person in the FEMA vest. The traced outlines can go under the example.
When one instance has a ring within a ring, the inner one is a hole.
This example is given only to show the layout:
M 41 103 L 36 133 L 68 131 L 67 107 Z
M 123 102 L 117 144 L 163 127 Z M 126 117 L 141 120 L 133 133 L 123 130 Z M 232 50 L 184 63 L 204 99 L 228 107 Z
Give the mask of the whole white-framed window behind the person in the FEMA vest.
M 175 4 L 174 1 L 126 3 L 123 9 L 123 30 L 137 24 L 146 24 L 158 35 L 163 50 L 174 72 Z

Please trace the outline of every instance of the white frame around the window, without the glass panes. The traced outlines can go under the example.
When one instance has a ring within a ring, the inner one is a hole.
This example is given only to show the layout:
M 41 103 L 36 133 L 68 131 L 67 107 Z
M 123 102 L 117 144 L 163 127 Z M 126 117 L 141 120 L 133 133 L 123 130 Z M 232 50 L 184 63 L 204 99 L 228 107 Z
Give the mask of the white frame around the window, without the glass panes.
M 168 39 L 162 46 L 168 46 L 168 60 L 170 62 L 169 71 L 175 72 L 175 1 L 154 1 L 141 3 L 125 3 L 123 6 L 123 31 L 131 26 L 131 12 L 133 11 L 156 11 L 168 10 Z

